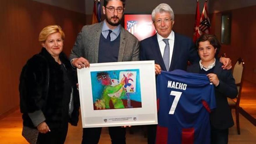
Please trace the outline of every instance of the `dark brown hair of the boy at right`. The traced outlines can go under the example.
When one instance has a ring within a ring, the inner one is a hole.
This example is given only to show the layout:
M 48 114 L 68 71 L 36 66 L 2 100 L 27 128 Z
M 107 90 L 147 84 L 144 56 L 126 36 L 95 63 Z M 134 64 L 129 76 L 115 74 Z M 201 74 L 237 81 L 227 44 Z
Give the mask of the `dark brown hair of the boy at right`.
M 218 55 L 220 49 L 221 49 L 221 44 L 219 43 L 219 41 L 217 40 L 216 36 L 215 35 L 210 35 L 210 34 L 204 34 L 204 35 L 201 35 L 195 42 L 195 46 L 196 48 L 198 49 L 199 47 L 199 43 L 200 42 L 204 42 L 204 41 L 209 41 L 210 44 L 216 48 L 216 54 L 215 55 Z

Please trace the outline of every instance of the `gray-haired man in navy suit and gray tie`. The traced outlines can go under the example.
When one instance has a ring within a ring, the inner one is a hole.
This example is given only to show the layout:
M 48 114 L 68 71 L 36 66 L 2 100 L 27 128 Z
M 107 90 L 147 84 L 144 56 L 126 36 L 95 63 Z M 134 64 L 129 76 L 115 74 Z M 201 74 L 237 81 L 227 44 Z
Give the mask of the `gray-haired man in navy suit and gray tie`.
M 191 38 L 172 31 L 174 13 L 168 4 L 161 3 L 152 11 L 152 21 L 157 33 L 141 41 L 140 60 L 154 60 L 155 74 L 160 74 L 161 70 L 186 70 L 188 61 L 199 61 Z M 224 64 L 224 69 L 231 69 L 229 58 L 221 58 L 220 61 Z M 154 144 L 156 125 L 149 126 L 148 131 L 148 143 Z

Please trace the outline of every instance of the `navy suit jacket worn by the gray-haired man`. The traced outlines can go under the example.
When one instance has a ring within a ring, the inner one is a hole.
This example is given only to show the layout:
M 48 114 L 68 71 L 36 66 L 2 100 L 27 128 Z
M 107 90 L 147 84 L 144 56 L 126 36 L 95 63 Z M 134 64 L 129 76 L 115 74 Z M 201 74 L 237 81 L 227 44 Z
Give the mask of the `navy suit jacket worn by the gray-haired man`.
M 170 69 L 168 71 L 180 69 L 186 70 L 187 62 L 195 63 L 199 61 L 197 50 L 193 41 L 180 35 L 174 33 L 174 46 L 173 46 L 173 56 L 170 64 Z M 157 41 L 157 34 L 146 38 L 140 43 L 140 60 L 154 60 L 155 64 L 159 64 L 162 70 L 166 71 L 166 67 L 163 62 L 163 58 L 160 52 L 159 44 Z

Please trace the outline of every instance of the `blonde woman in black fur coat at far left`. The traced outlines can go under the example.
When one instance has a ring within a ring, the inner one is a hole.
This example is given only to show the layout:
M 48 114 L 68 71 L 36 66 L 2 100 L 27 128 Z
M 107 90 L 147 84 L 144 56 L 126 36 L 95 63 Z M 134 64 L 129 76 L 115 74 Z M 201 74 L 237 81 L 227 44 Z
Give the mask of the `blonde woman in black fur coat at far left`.
M 39 34 L 42 50 L 30 58 L 20 76 L 23 125 L 39 131 L 37 143 L 64 143 L 68 122 L 77 125 L 77 80 L 63 50 L 60 26 L 46 26 Z

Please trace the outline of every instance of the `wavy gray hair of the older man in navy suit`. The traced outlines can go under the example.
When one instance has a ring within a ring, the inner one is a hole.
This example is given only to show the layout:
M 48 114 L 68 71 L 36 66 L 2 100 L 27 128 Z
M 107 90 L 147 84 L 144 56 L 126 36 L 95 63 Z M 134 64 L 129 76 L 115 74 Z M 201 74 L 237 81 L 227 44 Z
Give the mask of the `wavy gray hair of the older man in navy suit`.
M 155 16 L 157 13 L 170 13 L 172 19 L 174 20 L 174 13 L 173 13 L 173 9 L 166 3 L 161 3 L 159 4 L 153 11 L 152 11 L 152 21 L 155 21 Z

